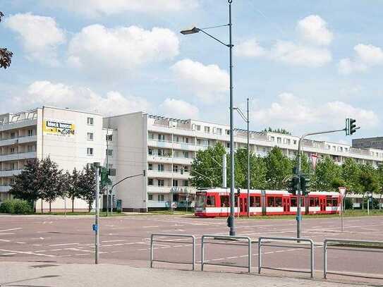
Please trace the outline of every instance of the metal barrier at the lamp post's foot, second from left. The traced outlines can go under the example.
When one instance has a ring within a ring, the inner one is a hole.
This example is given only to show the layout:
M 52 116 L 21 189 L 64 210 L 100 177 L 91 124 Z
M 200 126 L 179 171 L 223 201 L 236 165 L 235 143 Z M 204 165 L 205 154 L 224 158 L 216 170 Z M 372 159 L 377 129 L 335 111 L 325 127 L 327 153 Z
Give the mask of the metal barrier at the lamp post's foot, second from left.
M 238 243 L 218 243 L 218 242 L 205 242 L 205 238 L 213 238 L 219 240 L 237 240 L 245 239 L 248 241 L 248 244 L 238 244 Z M 222 245 L 236 245 L 236 246 L 246 246 L 248 245 L 248 266 L 233 266 L 229 264 L 220 264 L 220 263 L 208 263 L 205 262 L 205 244 L 222 244 Z M 228 266 L 228 267 L 241 267 L 247 268 L 248 272 L 251 272 L 251 239 L 247 236 L 218 236 L 218 235 L 204 235 L 201 238 L 201 270 L 203 271 L 204 265 L 217 265 L 217 266 Z

